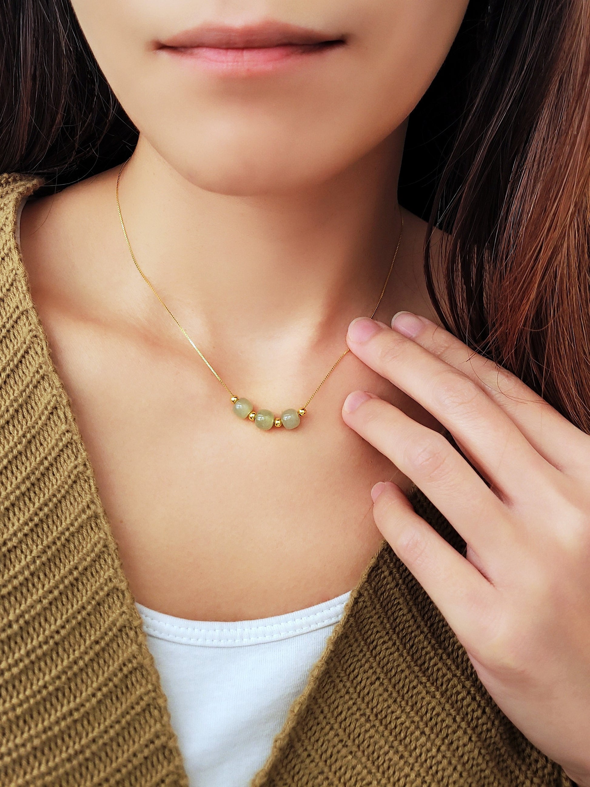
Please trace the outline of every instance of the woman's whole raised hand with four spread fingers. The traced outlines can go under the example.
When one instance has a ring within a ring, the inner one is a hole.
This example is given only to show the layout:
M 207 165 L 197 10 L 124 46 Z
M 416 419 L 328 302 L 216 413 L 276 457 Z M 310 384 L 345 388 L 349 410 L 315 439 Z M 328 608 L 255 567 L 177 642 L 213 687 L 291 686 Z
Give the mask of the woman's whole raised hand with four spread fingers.
M 426 494 L 461 556 L 400 488 L 371 490 L 374 520 L 448 624 L 503 713 L 579 787 L 590 785 L 590 437 L 525 384 L 430 320 L 353 320 L 348 346 L 448 429 L 371 393 L 349 427 Z

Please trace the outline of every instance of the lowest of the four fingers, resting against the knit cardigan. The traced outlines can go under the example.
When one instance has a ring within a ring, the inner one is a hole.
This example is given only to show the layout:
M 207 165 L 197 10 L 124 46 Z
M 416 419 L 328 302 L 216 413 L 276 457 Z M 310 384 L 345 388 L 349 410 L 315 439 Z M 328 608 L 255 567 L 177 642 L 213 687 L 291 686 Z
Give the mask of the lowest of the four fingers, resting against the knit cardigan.
M 496 600 L 494 587 L 414 512 L 399 487 L 391 482 L 379 486 L 373 507 L 375 524 L 463 647 L 473 651 L 485 641 L 484 627 L 489 626 Z

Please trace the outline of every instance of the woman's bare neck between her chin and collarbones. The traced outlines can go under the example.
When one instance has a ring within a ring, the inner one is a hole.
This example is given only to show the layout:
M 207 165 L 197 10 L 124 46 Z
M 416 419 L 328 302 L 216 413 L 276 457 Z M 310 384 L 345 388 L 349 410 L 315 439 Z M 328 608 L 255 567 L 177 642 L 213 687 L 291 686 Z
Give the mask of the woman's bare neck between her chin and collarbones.
M 140 137 L 119 192 L 138 264 L 201 335 L 321 341 L 377 303 L 400 233 L 403 136 L 327 182 L 253 196 L 195 186 Z

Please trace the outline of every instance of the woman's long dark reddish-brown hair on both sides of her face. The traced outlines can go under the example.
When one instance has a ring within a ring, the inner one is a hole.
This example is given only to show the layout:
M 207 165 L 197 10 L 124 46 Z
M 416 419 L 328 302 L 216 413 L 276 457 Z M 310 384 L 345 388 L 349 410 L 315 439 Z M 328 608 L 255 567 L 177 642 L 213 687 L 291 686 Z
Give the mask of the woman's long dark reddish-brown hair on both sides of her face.
M 400 176 L 402 204 L 446 234 L 436 269 L 425 249 L 441 320 L 588 433 L 589 4 L 471 0 Z M 138 131 L 68 0 L 4 2 L 0 30 L 0 172 L 46 191 L 124 161 Z

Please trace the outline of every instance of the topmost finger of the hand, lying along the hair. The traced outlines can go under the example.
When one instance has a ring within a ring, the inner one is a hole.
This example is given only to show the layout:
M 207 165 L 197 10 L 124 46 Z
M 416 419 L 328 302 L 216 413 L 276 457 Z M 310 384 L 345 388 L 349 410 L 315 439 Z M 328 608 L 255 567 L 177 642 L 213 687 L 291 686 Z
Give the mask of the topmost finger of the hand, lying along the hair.
M 516 424 L 530 445 L 554 467 L 588 470 L 590 438 L 564 418 L 516 375 L 482 357 L 425 317 L 409 312 L 394 316 L 396 331 L 412 338 L 480 386 Z

